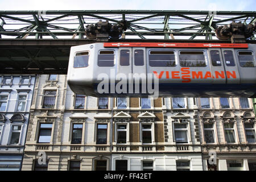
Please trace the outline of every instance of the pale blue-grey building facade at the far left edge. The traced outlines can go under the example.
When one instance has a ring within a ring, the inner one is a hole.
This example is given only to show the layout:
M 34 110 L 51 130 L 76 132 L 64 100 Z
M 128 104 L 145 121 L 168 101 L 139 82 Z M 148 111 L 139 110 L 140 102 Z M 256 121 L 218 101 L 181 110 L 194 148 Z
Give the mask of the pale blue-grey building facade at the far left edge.
M 35 76 L 0 76 L 0 171 L 22 165 Z

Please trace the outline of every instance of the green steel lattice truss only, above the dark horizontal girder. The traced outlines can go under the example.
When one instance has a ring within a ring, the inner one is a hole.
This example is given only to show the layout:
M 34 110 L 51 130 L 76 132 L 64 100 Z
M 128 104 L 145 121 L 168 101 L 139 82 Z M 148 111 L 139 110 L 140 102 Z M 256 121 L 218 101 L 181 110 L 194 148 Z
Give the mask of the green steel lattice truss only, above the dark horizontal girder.
M 86 25 L 127 21 L 122 39 L 215 39 L 214 30 L 232 21 L 256 22 L 256 11 L 0 11 L 0 38 L 85 39 Z M 251 36 L 251 39 L 255 39 Z

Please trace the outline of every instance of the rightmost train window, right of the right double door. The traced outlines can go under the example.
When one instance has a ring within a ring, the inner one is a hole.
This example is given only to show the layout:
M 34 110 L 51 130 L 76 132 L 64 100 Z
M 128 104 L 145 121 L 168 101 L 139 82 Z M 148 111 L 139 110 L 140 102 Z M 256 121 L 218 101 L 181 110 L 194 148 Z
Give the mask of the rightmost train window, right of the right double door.
M 254 56 L 253 52 L 250 51 L 239 51 L 238 60 L 241 67 L 254 67 Z

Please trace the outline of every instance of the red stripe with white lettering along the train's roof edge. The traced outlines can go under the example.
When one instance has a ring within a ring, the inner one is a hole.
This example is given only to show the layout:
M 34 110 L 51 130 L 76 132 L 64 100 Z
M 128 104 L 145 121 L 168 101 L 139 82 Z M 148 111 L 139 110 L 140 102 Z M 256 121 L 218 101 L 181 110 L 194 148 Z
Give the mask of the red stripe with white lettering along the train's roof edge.
M 104 47 L 210 47 L 210 48 L 248 48 L 248 44 L 229 44 L 229 43 L 104 43 Z

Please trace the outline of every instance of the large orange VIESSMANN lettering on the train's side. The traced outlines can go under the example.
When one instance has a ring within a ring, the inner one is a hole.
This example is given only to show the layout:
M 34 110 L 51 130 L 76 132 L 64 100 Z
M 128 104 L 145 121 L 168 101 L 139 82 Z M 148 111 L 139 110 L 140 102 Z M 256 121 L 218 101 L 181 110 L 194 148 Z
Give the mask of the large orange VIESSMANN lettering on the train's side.
M 190 68 L 181 68 L 180 71 L 153 71 L 156 78 L 167 78 L 167 79 L 181 79 L 183 83 L 191 82 L 192 79 L 208 79 L 208 78 L 237 78 L 235 71 L 224 71 L 218 72 L 205 72 L 202 71 L 190 71 Z

